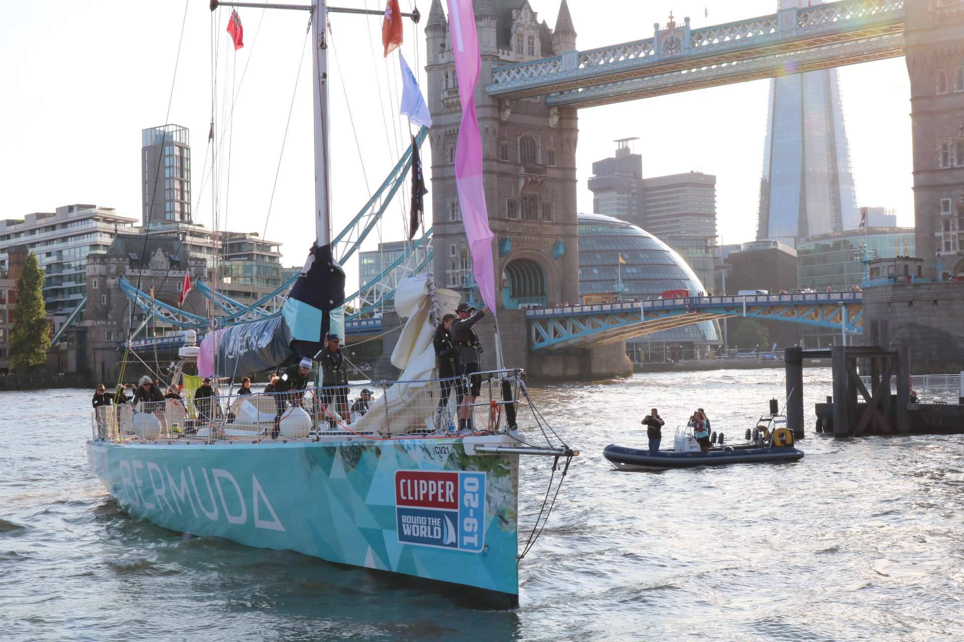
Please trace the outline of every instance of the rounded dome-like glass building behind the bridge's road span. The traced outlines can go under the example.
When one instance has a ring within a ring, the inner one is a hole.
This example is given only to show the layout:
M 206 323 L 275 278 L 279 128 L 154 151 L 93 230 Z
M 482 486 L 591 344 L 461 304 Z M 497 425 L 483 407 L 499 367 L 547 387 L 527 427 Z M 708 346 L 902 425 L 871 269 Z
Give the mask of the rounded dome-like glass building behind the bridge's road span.
M 618 292 L 620 284 L 623 300 L 667 290 L 706 292 L 680 255 L 649 232 L 602 214 L 580 214 L 578 225 L 580 295 Z M 626 347 L 633 360 L 661 361 L 706 357 L 721 344 L 719 324 L 703 321 L 628 339 Z

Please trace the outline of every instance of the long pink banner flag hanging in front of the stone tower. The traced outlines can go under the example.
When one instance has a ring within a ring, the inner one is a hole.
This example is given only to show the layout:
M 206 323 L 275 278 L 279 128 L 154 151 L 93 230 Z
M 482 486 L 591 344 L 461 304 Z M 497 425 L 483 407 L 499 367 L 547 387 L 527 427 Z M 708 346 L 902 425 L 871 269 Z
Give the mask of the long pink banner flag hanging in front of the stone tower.
M 482 136 L 475 114 L 475 85 L 482 71 L 475 12 L 472 0 L 448 0 L 448 28 L 455 54 L 455 72 L 459 78 L 462 100 L 462 126 L 455 147 L 455 184 L 459 190 L 459 206 L 466 237 L 472 252 L 472 276 L 479 294 L 495 314 L 495 271 L 489 215 L 482 190 Z

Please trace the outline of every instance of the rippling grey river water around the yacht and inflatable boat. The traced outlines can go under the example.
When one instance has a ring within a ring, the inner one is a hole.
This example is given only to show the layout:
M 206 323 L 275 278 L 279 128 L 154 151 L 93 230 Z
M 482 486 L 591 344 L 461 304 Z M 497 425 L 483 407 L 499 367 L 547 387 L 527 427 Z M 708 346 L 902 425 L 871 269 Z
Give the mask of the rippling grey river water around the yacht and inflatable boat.
M 812 424 L 830 372 L 804 380 Z M 90 391 L 0 393 L 0 638 L 964 639 L 960 436 L 836 441 L 808 425 L 796 464 L 662 473 L 601 455 L 645 446 L 653 405 L 664 447 L 698 406 L 741 439 L 783 386 L 763 370 L 533 388 L 583 454 L 522 561 L 516 611 L 131 519 L 87 466 Z M 547 465 L 523 462 L 521 532 Z

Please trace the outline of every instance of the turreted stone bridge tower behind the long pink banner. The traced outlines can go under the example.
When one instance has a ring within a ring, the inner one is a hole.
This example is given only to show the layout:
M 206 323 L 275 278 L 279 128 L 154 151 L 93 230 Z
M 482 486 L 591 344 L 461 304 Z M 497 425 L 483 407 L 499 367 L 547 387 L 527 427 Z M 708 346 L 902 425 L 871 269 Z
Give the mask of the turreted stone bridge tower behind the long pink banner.
M 482 56 L 475 103 L 489 226 L 495 233 L 498 305 L 514 309 L 526 303 L 577 304 L 576 109 L 549 108 L 545 96 L 500 100 L 485 94 L 495 66 L 576 49 L 569 7 L 563 0 L 555 29 L 549 29 L 528 0 L 476 0 L 475 24 Z M 428 105 L 434 122 L 429 143 L 435 278 L 440 286 L 477 301 L 455 187 L 462 105 L 440 0 L 433 0 L 425 33 Z

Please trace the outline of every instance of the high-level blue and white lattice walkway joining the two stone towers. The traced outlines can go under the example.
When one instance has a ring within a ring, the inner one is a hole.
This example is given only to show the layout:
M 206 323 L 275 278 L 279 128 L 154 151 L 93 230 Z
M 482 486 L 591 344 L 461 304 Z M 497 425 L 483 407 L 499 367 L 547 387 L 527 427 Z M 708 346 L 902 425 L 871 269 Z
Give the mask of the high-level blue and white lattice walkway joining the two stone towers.
M 904 0 L 841 0 L 493 69 L 486 93 L 593 107 L 904 55 Z

